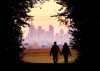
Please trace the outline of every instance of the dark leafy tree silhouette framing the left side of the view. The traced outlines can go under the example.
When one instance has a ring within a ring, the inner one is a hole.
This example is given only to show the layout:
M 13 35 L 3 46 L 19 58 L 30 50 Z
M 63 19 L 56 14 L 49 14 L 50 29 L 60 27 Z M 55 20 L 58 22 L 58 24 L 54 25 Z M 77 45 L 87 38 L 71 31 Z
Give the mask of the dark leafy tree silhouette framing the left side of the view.
M 0 1 L 0 23 L 2 41 L 0 46 L 0 63 L 20 63 L 22 31 L 21 26 L 27 25 L 27 13 L 35 0 L 2 0 Z

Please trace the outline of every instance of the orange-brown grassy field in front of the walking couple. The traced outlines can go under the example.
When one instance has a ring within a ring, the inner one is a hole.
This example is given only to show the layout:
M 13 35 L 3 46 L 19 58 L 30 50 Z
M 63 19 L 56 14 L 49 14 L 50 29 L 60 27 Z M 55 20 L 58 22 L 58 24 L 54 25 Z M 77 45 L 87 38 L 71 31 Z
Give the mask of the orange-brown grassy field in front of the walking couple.
M 70 51 L 72 56 L 69 56 L 68 62 L 72 63 L 77 58 L 78 52 L 73 49 L 70 49 Z M 30 63 L 53 63 L 50 49 L 26 49 L 23 60 Z M 60 54 L 58 63 L 64 63 L 63 56 Z

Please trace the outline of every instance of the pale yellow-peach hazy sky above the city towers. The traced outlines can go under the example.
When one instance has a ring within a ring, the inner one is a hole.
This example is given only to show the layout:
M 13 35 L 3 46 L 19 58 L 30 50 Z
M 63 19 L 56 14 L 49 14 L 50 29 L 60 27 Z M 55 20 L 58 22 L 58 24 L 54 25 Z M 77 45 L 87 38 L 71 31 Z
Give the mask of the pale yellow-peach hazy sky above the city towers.
M 68 28 L 65 25 L 59 26 L 58 18 L 50 17 L 52 15 L 56 15 L 57 13 L 63 12 L 65 8 L 62 11 L 58 11 L 61 7 L 62 6 L 54 2 L 54 0 L 50 0 L 43 4 L 36 4 L 35 8 L 32 8 L 31 12 L 28 14 L 34 16 L 33 25 L 35 25 L 35 28 L 42 26 L 42 29 L 48 31 L 48 27 L 51 24 L 54 27 L 54 34 L 59 33 L 60 29 L 63 29 L 66 33 Z M 28 33 L 28 27 L 23 28 L 23 30 L 25 37 Z

